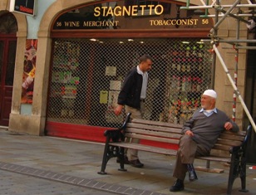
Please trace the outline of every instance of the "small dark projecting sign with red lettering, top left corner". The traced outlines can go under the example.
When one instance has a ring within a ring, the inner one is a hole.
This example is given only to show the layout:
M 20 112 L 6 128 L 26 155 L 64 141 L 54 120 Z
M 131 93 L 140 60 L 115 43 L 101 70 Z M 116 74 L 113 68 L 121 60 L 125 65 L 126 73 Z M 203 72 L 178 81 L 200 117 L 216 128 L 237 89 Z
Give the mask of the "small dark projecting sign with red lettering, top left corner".
M 11 0 L 10 11 L 35 16 L 36 2 L 37 0 Z

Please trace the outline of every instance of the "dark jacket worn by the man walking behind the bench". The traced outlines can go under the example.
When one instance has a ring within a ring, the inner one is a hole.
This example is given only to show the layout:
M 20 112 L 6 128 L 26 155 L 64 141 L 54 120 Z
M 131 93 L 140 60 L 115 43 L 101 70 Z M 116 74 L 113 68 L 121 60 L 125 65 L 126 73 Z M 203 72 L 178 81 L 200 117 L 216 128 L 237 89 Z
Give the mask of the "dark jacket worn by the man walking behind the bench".
M 142 88 L 142 76 L 137 72 L 137 67 L 132 68 L 122 85 L 118 95 L 118 105 L 129 105 L 135 109 L 140 109 L 140 93 Z

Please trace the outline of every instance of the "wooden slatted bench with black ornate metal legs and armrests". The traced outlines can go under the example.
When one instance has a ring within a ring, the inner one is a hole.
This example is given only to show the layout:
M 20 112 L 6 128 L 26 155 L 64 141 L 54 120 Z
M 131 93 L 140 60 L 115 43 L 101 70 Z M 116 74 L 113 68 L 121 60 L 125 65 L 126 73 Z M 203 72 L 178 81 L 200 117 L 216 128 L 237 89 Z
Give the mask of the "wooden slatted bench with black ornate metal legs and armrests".
M 101 172 L 99 174 L 106 174 L 106 163 L 110 158 L 120 158 L 121 171 L 126 171 L 124 167 L 124 150 L 137 149 L 141 151 L 165 154 L 175 156 L 176 149 L 168 149 L 168 146 L 179 144 L 181 135 L 181 124 L 170 124 L 164 122 L 156 122 L 145 119 L 132 119 L 130 121 L 130 114 L 126 116 L 126 120 L 120 129 L 106 130 L 106 145 L 103 154 Z M 239 131 L 232 133 L 224 131 L 220 134 L 217 143 L 211 151 L 209 156 L 199 157 L 199 159 L 206 160 L 205 168 L 196 168 L 199 170 L 216 172 L 213 168 L 209 168 L 210 161 L 219 161 L 229 163 L 229 182 L 227 194 L 231 194 L 234 179 L 241 179 L 241 191 L 247 192 L 245 188 L 246 183 L 246 145 L 249 139 L 251 126 L 246 132 Z M 126 138 L 140 139 L 140 144 L 127 143 Z M 155 144 L 145 144 L 145 141 L 154 142 Z M 160 147 L 165 144 L 165 148 Z M 159 145 L 159 146 L 155 146 Z M 221 173 L 221 170 L 217 170 Z

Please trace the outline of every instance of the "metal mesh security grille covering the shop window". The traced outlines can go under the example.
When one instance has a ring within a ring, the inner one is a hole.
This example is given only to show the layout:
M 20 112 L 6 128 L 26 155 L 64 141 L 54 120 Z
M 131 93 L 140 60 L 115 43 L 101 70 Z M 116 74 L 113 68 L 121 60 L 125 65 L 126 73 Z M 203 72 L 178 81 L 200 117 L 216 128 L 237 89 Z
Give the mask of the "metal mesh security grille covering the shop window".
M 117 127 L 114 115 L 127 72 L 153 57 L 145 119 L 183 124 L 211 85 L 210 46 L 192 38 L 58 38 L 53 41 L 47 120 Z

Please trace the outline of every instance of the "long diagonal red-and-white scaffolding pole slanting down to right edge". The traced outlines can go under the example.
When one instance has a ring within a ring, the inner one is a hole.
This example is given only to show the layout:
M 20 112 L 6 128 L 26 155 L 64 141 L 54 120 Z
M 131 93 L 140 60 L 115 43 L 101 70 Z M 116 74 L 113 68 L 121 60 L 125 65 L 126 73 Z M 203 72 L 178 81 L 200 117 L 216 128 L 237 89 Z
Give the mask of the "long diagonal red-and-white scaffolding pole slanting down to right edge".
M 232 85 L 233 88 L 234 88 L 234 91 L 236 92 L 236 94 L 237 94 L 238 97 L 239 97 L 239 100 L 240 100 L 240 102 L 241 102 L 241 105 L 242 105 L 243 108 L 244 108 L 245 114 L 248 116 L 249 121 L 250 121 L 250 123 L 252 124 L 252 126 L 253 126 L 253 128 L 254 128 L 254 131 L 255 131 L 255 133 L 256 133 L 256 125 L 255 125 L 255 123 L 254 123 L 254 119 L 253 119 L 252 116 L 250 115 L 249 110 L 247 109 L 247 107 L 246 107 L 246 105 L 245 105 L 245 103 L 244 103 L 244 100 L 243 100 L 243 98 L 242 98 L 241 95 L 240 95 L 239 89 L 237 88 L 236 85 L 234 85 L 234 80 L 233 80 L 232 77 L 230 76 L 229 70 L 228 70 L 227 66 L 225 65 L 225 63 L 224 63 L 223 58 L 220 56 L 219 50 L 218 50 L 218 48 L 217 48 L 217 46 L 216 46 L 215 44 L 213 45 L 213 48 L 214 48 L 214 51 L 215 51 L 216 55 L 217 55 L 218 58 L 219 58 L 219 61 L 220 61 L 221 65 L 222 65 L 223 68 L 224 68 L 225 73 L 227 74 L 227 76 L 228 76 L 228 78 L 229 78 L 229 81 L 230 81 L 231 85 Z

